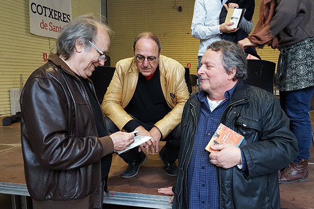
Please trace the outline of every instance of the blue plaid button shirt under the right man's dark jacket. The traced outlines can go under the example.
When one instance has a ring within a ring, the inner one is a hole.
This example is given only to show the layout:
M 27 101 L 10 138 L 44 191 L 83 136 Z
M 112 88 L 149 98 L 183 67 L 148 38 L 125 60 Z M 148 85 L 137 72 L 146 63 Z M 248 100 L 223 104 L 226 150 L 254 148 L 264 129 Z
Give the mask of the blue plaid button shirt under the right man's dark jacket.
M 219 119 L 229 104 L 235 86 L 224 93 L 226 99 L 213 111 L 210 110 L 206 92 L 201 90 L 195 94 L 197 101 L 202 102 L 202 109 L 195 135 L 193 153 L 188 165 L 187 192 L 189 208 L 213 209 L 219 207 L 216 168 L 210 162 L 210 153 L 205 150 L 205 147 L 218 127 Z

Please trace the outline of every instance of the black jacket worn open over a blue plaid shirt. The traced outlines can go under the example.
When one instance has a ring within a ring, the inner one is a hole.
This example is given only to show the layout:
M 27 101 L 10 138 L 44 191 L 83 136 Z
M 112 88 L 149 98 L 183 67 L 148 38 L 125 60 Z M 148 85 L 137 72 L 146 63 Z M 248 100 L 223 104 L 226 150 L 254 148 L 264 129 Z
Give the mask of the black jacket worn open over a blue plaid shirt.
M 182 115 L 179 171 L 173 208 L 187 208 L 187 169 L 202 103 L 192 95 Z M 280 208 L 278 171 L 298 155 L 297 140 L 278 99 L 238 82 L 220 122 L 245 137 L 241 148 L 248 171 L 216 167 L 220 208 Z

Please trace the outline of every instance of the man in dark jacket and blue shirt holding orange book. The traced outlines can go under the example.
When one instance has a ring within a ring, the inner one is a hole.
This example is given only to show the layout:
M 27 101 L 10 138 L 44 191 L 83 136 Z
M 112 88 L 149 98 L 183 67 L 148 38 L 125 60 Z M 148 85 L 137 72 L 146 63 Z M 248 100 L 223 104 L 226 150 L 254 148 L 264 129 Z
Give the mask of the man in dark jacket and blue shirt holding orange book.
M 280 208 L 278 171 L 294 160 L 298 148 L 278 99 L 244 85 L 244 51 L 226 40 L 209 46 L 198 74 L 201 90 L 182 115 L 173 208 Z M 240 147 L 204 150 L 219 123 L 244 136 Z

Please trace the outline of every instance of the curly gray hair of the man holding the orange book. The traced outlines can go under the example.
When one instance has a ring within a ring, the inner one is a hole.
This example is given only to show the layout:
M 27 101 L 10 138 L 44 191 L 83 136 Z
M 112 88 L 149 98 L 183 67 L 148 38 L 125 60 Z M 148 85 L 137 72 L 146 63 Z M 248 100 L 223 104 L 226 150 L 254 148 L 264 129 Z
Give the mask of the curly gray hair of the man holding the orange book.
M 235 73 L 233 80 L 245 80 L 248 77 L 248 61 L 243 48 L 233 42 L 222 39 L 215 41 L 207 49 L 222 52 L 222 65 L 227 73 L 232 72 L 232 67 L 237 68 L 237 73 Z

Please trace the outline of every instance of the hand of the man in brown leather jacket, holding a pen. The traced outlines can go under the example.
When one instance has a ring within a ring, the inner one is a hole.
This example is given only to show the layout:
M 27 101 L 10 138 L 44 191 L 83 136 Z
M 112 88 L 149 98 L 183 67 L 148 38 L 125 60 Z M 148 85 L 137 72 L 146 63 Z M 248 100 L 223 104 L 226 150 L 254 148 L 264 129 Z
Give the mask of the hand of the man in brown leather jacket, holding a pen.
M 134 142 L 134 134 L 127 132 L 115 132 L 109 136 L 113 142 L 113 150 L 125 150 Z

